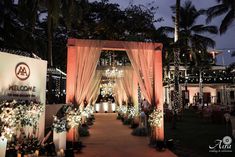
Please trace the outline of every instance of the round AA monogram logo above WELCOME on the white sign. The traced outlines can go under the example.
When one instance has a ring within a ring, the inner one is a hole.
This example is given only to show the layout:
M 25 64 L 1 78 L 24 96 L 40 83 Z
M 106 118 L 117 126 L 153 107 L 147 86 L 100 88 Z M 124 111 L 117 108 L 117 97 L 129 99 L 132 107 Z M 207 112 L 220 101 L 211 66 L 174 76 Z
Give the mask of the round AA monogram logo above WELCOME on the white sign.
M 30 76 L 29 66 L 24 62 L 18 63 L 15 68 L 15 75 L 21 81 L 27 80 Z

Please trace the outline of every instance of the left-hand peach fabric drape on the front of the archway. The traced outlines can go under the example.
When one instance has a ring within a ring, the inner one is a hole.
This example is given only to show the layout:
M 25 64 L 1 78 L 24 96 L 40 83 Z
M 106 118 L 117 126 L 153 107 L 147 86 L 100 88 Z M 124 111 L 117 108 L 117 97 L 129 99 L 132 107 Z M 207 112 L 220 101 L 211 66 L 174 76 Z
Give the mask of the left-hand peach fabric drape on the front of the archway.
M 83 105 L 91 88 L 101 48 L 101 42 L 93 40 L 80 41 L 77 46 L 75 101 L 79 105 Z

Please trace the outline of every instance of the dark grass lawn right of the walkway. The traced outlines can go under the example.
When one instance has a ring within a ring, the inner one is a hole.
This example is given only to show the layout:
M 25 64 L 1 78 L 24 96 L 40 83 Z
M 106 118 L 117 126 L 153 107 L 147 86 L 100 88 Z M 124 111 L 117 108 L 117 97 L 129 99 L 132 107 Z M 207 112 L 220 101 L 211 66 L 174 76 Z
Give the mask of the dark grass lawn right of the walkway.
M 173 152 L 179 157 L 235 157 L 235 143 L 232 143 L 232 153 L 211 153 L 209 145 L 214 146 L 216 139 L 232 134 L 231 124 L 215 124 L 199 117 L 193 110 L 185 110 L 183 119 L 172 129 L 171 122 L 165 122 L 165 139 L 174 139 Z

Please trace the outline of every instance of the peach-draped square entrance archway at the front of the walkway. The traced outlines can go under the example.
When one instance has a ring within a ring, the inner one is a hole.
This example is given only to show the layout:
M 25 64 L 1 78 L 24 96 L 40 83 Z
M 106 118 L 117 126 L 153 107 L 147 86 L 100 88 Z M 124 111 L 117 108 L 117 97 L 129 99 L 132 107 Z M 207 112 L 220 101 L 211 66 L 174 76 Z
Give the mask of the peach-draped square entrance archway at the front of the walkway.
M 95 99 L 88 95 L 92 95 L 92 80 L 96 77 L 101 50 L 127 52 L 135 73 L 133 81 L 138 82 L 146 100 L 163 115 L 161 43 L 68 39 L 66 102 L 83 105 L 84 100 Z M 133 94 L 137 97 L 137 92 Z M 158 140 L 164 139 L 163 119 L 156 134 Z

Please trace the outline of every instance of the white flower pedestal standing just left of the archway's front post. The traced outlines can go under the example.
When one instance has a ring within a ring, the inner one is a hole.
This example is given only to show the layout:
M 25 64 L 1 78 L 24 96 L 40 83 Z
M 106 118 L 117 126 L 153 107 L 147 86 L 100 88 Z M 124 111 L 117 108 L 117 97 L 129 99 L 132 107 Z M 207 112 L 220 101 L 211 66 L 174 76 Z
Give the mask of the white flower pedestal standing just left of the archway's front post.
M 56 152 L 61 149 L 66 150 L 66 131 L 60 133 L 53 131 L 53 142 Z

